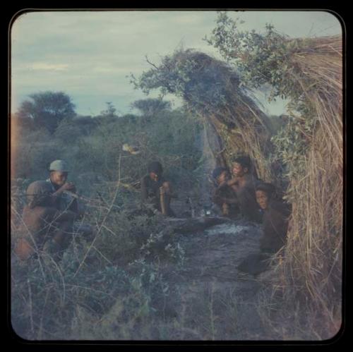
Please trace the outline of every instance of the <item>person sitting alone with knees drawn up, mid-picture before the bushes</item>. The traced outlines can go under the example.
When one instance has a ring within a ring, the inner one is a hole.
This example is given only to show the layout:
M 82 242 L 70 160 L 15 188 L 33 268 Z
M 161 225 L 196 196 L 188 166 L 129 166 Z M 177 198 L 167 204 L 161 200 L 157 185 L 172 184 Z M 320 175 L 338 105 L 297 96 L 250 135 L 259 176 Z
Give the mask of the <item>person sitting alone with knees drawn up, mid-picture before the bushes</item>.
M 150 202 L 155 210 L 169 217 L 175 217 L 170 207 L 170 200 L 174 197 L 171 184 L 162 174 L 160 162 L 148 164 L 148 174 L 141 179 L 141 197 L 143 202 Z

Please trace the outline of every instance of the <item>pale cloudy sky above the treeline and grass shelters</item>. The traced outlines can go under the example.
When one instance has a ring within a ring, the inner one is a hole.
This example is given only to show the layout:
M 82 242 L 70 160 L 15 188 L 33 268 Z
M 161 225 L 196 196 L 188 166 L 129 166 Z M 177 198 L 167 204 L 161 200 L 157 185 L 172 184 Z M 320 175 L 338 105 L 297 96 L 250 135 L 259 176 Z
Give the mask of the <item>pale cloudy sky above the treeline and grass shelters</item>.
M 325 11 L 229 11 L 244 30 L 263 31 L 265 23 L 289 37 L 342 33 L 339 20 Z M 133 90 L 136 77 L 178 47 L 220 59 L 203 38 L 215 28 L 216 11 L 35 11 L 23 13 L 11 28 L 11 112 L 28 95 L 65 92 L 80 115 L 97 115 L 112 102 L 119 114 L 146 96 Z M 150 95 L 157 97 L 157 92 Z M 168 99 L 178 107 L 174 96 Z M 258 99 L 268 114 L 285 113 L 286 102 Z M 136 112 L 136 111 L 135 111 Z

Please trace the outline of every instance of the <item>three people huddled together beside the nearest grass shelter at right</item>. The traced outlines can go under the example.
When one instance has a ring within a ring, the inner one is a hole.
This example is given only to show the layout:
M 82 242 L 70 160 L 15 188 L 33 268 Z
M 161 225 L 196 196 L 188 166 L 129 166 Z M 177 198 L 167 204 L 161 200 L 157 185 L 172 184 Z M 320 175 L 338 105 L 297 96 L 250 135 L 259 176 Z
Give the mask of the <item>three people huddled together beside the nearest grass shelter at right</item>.
M 232 176 L 225 167 L 213 171 L 215 191 L 213 202 L 223 216 L 262 222 L 260 253 L 250 255 L 239 265 L 242 272 L 258 274 L 264 271 L 271 255 L 286 243 L 290 206 L 275 190 L 275 186 L 259 180 L 251 172 L 249 157 L 238 157 L 232 163 Z

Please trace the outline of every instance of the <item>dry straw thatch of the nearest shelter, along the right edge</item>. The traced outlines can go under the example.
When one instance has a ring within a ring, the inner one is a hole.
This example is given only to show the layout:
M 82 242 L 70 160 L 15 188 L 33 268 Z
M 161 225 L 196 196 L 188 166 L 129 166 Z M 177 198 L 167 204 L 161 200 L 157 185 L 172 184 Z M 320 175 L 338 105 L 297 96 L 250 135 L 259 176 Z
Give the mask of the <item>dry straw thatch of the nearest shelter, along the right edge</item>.
M 325 334 L 333 335 L 342 300 L 342 38 L 304 41 L 290 57 L 289 72 L 301 86 L 316 127 L 304 169 L 292 173 L 287 191 L 293 212 L 283 284 L 312 298 L 328 318 L 322 321 Z

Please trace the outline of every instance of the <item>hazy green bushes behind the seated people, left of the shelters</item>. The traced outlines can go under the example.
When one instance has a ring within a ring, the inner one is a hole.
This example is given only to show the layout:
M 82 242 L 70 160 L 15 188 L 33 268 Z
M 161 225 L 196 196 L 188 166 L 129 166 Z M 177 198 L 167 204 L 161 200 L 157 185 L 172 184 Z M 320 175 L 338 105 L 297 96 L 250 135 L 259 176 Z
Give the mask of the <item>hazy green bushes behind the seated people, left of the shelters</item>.
M 121 153 L 124 183 L 138 182 L 153 159 L 162 162 L 173 181 L 185 172 L 192 173 L 201 158 L 195 143 L 200 133 L 198 121 L 185 111 L 168 109 L 148 116 L 149 122 L 146 118 L 133 114 L 76 117 L 61 121 L 52 137 L 46 129 L 17 133 L 18 138 L 13 134 L 13 177 L 46 178 L 47 165 L 61 158 L 72 160 L 70 178 L 74 181 L 88 172 L 116 181 Z M 138 147 L 140 154 L 123 152 L 124 143 Z M 86 193 L 90 185 L 83 183 L 81 189 Z

